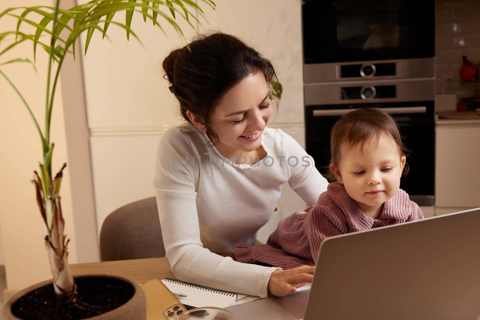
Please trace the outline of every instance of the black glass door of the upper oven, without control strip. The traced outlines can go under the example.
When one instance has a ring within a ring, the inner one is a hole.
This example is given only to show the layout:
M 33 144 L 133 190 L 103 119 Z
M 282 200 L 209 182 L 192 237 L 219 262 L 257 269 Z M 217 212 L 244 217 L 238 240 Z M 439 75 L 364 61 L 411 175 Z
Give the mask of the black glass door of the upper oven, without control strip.
M 434 0 L 303 0 L 305 63 L 434 56 Z

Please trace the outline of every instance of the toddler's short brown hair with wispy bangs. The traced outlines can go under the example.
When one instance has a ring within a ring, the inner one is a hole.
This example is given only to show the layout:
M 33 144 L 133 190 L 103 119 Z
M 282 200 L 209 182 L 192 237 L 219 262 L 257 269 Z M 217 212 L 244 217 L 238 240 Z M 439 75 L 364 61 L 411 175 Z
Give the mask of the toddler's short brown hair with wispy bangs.
M 340 145 L 347 143 L 349 150 L 360 143 L 361 147 L 373 137 L 380 138 L 382 133 L 389 135 L 398 146 L 400 156 L 407 156 L 408 149 L 402 142 L 398 124 L 384 109 L 361 108 L 344 114 L 332 128 L 330 134 L 330 163 L 338 167 L 340 161 Z M 405 164 L 403 174 L 408 172 Z M 336 178 L 331 170 L 327 178 L 333 182 Z

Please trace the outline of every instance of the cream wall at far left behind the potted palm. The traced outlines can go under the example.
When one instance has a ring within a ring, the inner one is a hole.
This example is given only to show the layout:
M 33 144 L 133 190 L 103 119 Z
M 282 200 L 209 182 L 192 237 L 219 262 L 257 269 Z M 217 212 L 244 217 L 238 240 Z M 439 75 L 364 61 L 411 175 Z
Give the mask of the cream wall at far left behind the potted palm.
M 2 0 L 0 11 L 14 6 L 52 5 L 51 0 Z M 14 30 L 16 20 L 0 19 L 0 30 Z M 2 44 L 1 48 L 4 48 Z M 0 63 L 18 57 L 30 57 L 32 43 L 26 42 L 17 50 L 0 57 Z M 45 83 L 48 56 L 37 50 L 36 74 L 27 64 L 0 67 L 16 84 L 33 109 L 40 127 L 44 127 Z M 60 88 L 60 86 L 59 86 Z M 45 227 L 36 205 L 34 186 L 30 182 L 33 170 L 42 160 L 42 149 L 30 116 L 10 86 L 0 79 L 0 228 L 3 257 L 6 266 L 7 287 L 11 291 L 23 289 L 38 281 L 51 278 L 47 250 L 44 245 Z M 61 92 L 57 92 L 53 106 L 51 140 L 55 142 L 52 171 L 56 172 L 67 161 L 63 106 Z M 68 168 L 62 181 L 62 209 L 69 244 L 69 261 L 75 263 L 76 239 L 72 224 L 72 197 Z

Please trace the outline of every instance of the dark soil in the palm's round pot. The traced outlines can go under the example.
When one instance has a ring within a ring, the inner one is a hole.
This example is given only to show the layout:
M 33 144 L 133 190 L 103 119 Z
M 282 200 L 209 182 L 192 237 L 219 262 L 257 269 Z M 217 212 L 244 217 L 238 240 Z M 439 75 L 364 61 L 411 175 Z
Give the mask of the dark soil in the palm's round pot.
M 135 288 L 124 281 L 108 277 L 75 278 L 78 299 L 99 307 L 99 313 L 105 313 L 120 307 L 130 300 Z M 97 316 L 98 313 L 82 310 L 75 306 L 62 304 L 53 284 L 48 284 L 27 293 L 12 305 L 12 314 L 24 320 L 77 320 Z

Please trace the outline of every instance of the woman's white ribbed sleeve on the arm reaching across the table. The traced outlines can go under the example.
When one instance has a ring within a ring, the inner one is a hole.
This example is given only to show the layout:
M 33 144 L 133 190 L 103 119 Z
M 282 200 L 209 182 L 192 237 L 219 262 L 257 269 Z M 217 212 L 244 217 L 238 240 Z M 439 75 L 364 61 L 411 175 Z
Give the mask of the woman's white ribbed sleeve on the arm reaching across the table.
M 164 245 L 173 274 L 187 282 L 267 296 L 270 274 L 277 268 L 240 263 L 203 247 L 196 203 L 199 167 L 183 161 L 187 155 L 199 155 L 192 151 L 192 142 L 183 137 L 182 132 L 175 130 L 164 134 L 157 148 L 154 180 Z

